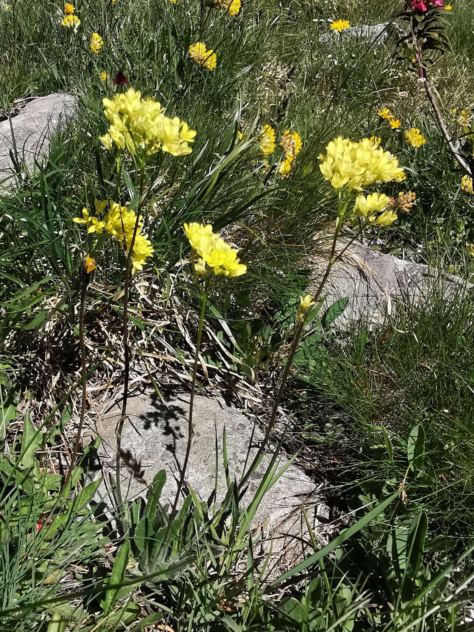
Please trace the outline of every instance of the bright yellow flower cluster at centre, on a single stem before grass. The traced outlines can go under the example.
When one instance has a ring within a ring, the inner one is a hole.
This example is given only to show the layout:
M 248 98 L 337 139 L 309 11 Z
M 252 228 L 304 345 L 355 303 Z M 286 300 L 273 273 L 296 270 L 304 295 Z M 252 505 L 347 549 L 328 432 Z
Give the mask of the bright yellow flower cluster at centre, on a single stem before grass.
M 236 277 L 245 274 L 247 267 L 237 258 L 236 248 L 232 248 L 221 239 L 219 234 L 213 233 L 210 224 L 192 222 L 185 224 L 184 228 L 191 248 L 198 255 L 197 263 L 194 265 L 197 274 L 207 274 L 206 266 L 216 275 Z

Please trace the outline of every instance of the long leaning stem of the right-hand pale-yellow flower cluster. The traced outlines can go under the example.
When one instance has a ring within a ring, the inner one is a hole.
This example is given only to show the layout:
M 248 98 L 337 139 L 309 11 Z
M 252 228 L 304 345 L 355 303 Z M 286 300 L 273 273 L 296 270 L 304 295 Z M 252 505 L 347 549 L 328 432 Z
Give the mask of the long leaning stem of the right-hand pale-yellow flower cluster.
M 349 204 L 349 195 L 347 196 L 346 202 L 345 202 L 343 207 L 341 206 L 341 198 L 339 197 L 338 202 L 337 202 L 337 207 L 338 207 L 338 211 L 339 212 L 337 214 L 336 229 L 334 231 L 334 237 L 332 238 L 332 246 L 331 246 L 331 253 L 329 255 L 329 262 L 327 263 L 327 267 L 325 269 L 324 275 L 322 276 L 320 284 L 319 284 L 317 290 L 315 291 L 314 295 L 312 296 L 311 300 L 314 303 L 317 303 L 319 301 L 319 297 L 321 295 L 321 292 L 322 292 L 322 289 L 324 287 L 324 284 L 327 281 L 327 277 L 329 276 L 329 272 L 331 272 L 332 266 L 334 265 L 334 263 L 339 258 L 339 255 L 337 257 L 334 257 L 334 253 L 336 252 L 337 237 L 339 236 L 339 231 L 341 230 L 341 225 L 342 225 L 342 222 L 343 222 L 344 213 L 347 210 L 348 204 Z M 309 313 L 309 310 L 303 315 L 303 318 L 301 319 L 301 322 L 299 322 L 298 323 L 298 327 L 296 327 L 296 331 L 295 331 L 295 334 L 293 336 L 293 342 L 291 343 L 291 348 L 289 349 L 288 360 L 286 362 L 286 366 L 285 366 L 284 371 L 283 371 L 283 376 L 281 378 L 280 387 L 278 389 L 277 396 L 276 396 L 275 401 L 273 403 L 272 414 L 270 416 L 270 421 L 269 421 L 268 426 L 267 426 L 267 432 L 265 433 L 264 440 L 262 441 L 262 443 L 258 447 L 257 454 L 255 454 L 255 458 L 253 459 L 252 464 L 250 465 L 250 468 L 248 468 L 246 474 L 241 478 L 241 481 L 240 481 L 240 484 L 239 484 L 239 490 L 242 489 L 243 485 L 245 485 L 245 483 L 248 481 L 248 479 L 252 476 L 253 470 L 255 469 L 255 467 L 258 464 L 258 460 L 260 459 L 260 456 L 262 456 L 262 454 L 264 453 L 265 446 L 267 445 L 267 442 L 269 441 L 270 436 L 271 436 L 271 434 L 273 432 L 273 429 L 275 427 L 275 420 L 276 420 L 276 416 L 277 416 L 277 412 L 278 412 L 278 407 L 280 405 L 284 389 L 286 388 L 286 381 L 288 380 L 288 375 L 289 375 L 289 372 L 291 371 L 291 365 L 293 364 L 293 360 L 295 359 L 296 350 L 298 349 L 298 345 L 300 344 L 301 334 L 302 334 L 303 329 L 305 327 L 305 322 L 307 320 L 308 313 Z

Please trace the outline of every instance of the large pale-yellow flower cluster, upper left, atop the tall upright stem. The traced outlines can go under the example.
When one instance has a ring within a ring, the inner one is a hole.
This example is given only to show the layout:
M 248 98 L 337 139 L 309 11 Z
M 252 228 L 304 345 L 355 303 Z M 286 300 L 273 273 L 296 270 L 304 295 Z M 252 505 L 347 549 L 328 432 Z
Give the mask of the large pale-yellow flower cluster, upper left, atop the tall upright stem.
M 196 132 L 177 116 L 164 116 L 161 104 L 153 98 L 142 99 L 142 94 L 130 88 L 114 99 L 103 100 L 104 114 L 109 131 L 100 137 L 106 149 L 114 143 L 119 149 L 128 149 L 131 154 L 143 152 L 155 154 L 160 149 L 174 156 L 191 153 L 188 143 L 194 141 Z

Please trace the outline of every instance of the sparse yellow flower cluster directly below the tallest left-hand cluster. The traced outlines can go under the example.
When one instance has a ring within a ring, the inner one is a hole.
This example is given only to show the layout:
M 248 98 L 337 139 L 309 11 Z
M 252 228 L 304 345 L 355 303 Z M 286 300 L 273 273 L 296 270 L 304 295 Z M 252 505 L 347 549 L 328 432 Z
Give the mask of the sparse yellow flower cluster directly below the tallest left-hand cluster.
M 137 214 L 135 211 L 128 209 L 126 206 L 121 206 L 112 200 L 109 200 L 109 210 L 102 221 L 97 217 L 90 216 L 87 209 L 82 209 L 82 217 L 75 217 L 74 221 L 77 224 L 84 224 L 87 226 L 88 233 L 102 234 L 104 231 L 109 233 L 114 240 L 123 243 L 125 238 L 125 244 L 127 250 L 130 249 L 131 240 L 133 237 L 133 230 L 135 229 L 135 223 L 137 222 Z M 95 212 L 100 215 L 107 207 L 107 200 L 99 202 L 94 200 Z M 135 243 L 133 244 L 133 252 L 131 254 L 131 264 L 133 272 L 136 270 L 142 270 L 143 264 L 147 257 L 150 257 L 154 253 L 151 241 L 148 239 L 146 233 L 142 233 L 143 227 L 142 217 L 138 220 L 137 234 L 135 235 Z

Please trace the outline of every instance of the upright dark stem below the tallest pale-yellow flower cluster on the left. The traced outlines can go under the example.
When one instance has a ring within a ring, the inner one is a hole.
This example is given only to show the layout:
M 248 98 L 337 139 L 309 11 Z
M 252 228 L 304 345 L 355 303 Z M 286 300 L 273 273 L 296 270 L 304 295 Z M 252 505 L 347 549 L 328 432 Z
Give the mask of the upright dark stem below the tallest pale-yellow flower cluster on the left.
M 125 375 L 124 375 L 124 383 L 123 383 L 122 411 L 121 411 L 120 419 L 116 428 L 117 454 L 116 454 L 116 461 L 115 461 L 117 501 L 118 501 L 120 513 L 122 513 L 122 505 L 123 505 L 121 482 L 120 482 L 120 449 L 121 449 L 123 423 L 125 422 L 126 410 L 127 410 L 128 382 L 130 379 L 130 355 L 131 355 L 130 346 L 128 345 L 128 296 L 130 293 L 130 268 L 131 268 L 131 257 L 133 255 L 133 246 L 135 245 L 135 237 L 137 236 L 138 224 L 140 222 L 140 212 L 143 206 L 143 183 L 144 182 L 145 182 L 145 166 L 142 165 L 141 170 L 140 170 L 140 194 L 138 197 L 137 220 L 135 221 L 135 226 L 133 228 L 133 235 L 130 241 L 130 249 L 128 250 L 127 257 L 126 257 L 125 282 L 123 284 L 123 349 L 124 349 L 124 355 L 125 355 Z M 123 236 L 123 240 L 124 240 L 124 247 L 126 250 L 125 233 Z

